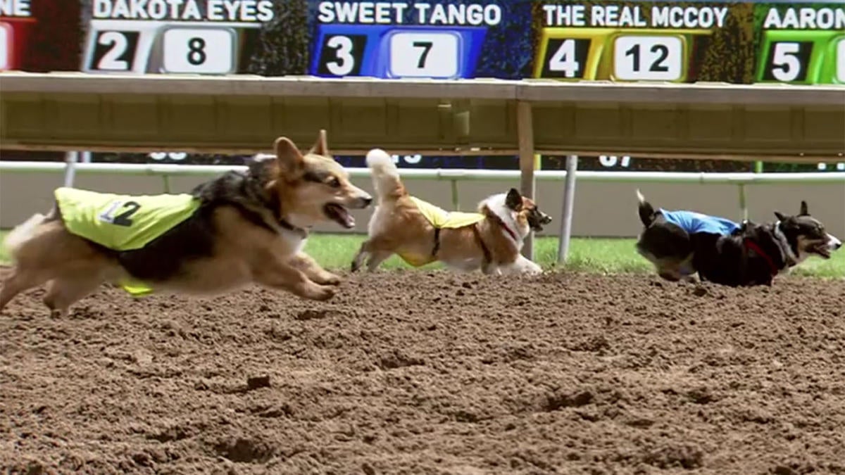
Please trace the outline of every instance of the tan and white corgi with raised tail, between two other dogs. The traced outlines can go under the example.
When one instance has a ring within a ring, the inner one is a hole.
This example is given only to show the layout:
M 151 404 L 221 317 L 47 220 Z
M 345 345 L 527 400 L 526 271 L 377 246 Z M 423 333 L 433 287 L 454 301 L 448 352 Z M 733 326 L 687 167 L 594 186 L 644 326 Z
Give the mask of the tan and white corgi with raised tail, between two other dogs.
M 440 261 L 452 270 L 481 269 L 485 274 L 542 272 L 520 253 L 528 233 L 542 231 L 552 219 L 515 188 L 482 200 L 477 213 L 449 212 L 408 194 L 384 150 L 370 150 L 367 166 L 378 205 L 352 271 L 365 260 L 368 269 L 375 270 L 398 254 L 415 267 Z

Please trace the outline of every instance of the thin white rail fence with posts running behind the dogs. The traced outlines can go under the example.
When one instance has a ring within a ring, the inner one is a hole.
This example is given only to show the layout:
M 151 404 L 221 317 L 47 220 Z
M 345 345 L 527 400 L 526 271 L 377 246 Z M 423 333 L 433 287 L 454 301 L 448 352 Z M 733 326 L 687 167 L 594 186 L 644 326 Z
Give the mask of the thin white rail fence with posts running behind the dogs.
M 68 167 L 68 165 L 70 165 Z M 232 170 L 246 170 L 245 166 L 236 165 L 178 165 L 157 163 L 63 163 L 58 161 L 0 161 L 0 173 L 65 173 L 65 184 L 71 186 L 74 175 L 142 175 L 161 177 L 165 193 L 170 193 L 170 177 L 206 177 L 219 175 Z M 350 177 L 370 177 L 368 168 L 347 167 Z M 518 183 L 519 170 L 474 170 L 455 168 L 401 168 L 401 176 L 407 180 L 449 181 L 452 189 L 452 205 L 458 207 L 458 182 L 461 181 L 509 181 Z M 563 182 L 567 172 L 563 170 L 540 170 L 534 176 L 540 181 Z M 845 184 L 845 172 L 806 172 L 806 173 L 705 173 L 705 172 L 591 172 L 575 171 L 575 178 L 585 182 L 604 183 L 698 183 L 698 184 L 733 184 L 738 187 L 739 210 L 741 216 L 748 217 L 745 199 L 746 185 L 783 184 L 783 183 L 842 183 Z M 565 199 L 564 199 L 565 201 Z M 571 203 L 570 203 L 571 205 Z M 571 206 L 570 206 L 571 207 Z M 567 203 L 564 203 L 564 210 Z M 565 214 L 565 213 L 564 213 Z M 566 259 L 569 246 L 570 226 L 564 216 L 561 223 L 561 247 L 559 261 Z

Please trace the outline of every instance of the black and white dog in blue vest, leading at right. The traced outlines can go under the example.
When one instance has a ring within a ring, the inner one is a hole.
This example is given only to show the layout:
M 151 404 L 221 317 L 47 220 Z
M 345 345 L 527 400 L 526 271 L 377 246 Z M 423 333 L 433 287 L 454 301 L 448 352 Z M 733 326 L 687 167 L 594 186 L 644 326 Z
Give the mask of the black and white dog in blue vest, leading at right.
M 810 257 L 830 259 L 842 242 L 801 202 L 797 216 L 775 211 L 777 221 L 742 224 L 695 211 L 655 210 L 637 190 L 645 229 L 636 243 L 657 274 L 668 281 L 702 281 L 728 286 L 771 285 L 774 276 Z

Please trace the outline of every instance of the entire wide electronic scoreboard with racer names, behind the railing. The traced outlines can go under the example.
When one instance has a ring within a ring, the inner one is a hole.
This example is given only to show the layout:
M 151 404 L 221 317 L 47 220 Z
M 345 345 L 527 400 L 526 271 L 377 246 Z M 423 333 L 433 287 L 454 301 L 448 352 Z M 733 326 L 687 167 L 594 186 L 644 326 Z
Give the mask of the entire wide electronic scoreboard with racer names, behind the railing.
M 0 0 L 8 69 L 845 85 L 845 0 Z

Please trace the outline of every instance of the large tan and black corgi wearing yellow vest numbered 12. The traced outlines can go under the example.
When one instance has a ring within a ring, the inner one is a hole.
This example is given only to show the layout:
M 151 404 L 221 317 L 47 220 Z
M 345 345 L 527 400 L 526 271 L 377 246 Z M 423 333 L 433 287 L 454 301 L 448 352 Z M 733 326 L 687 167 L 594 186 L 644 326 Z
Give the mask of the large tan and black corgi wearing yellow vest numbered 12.
M 325 300 L 341 278 L 303 252 L 308 229 L 324 221 L 353 227 L 349 209 L 372 201 L 330 156 L 325 131 L 304 155 L 280 137 L 275 156 L 187 194 L 57 188 L 54 195 L 46 216 L 35 214 L 6 238 L 15 265 L 0 311 L 43 283 L 44 303 L 57 317 L 105 282 L 133 295 L 213 295 L 257 283 Z

